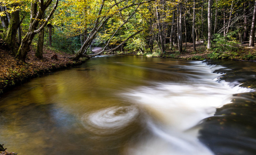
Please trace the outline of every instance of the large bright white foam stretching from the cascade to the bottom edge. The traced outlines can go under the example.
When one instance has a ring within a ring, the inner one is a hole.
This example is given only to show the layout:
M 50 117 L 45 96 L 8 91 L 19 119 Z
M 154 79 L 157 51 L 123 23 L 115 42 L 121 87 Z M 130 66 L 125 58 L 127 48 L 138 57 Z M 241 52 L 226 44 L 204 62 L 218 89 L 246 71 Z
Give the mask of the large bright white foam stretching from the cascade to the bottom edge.
M 150 155 L 210 155 L 212 152 L 199 142 L 193 128 L 202 119 L 214 114 L 217 107 L 230 103 L 232 94 L 251 89 L 217 82 L 222 66 L 208 66 L 198 61 L 181 66 L 192 73 L 188 81 L 151 82 L 151 86 L 136 87 L 122 95 L 148 111 L 147 125 L 153 137 L 130 147 L 130 154 Z

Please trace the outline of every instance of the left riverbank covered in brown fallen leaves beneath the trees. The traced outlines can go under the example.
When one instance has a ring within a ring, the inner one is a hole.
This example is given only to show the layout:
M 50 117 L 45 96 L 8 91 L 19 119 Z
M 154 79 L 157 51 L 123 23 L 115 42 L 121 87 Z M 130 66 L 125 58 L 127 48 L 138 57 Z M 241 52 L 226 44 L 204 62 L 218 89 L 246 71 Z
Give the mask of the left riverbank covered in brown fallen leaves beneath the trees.
M 47 48 L 43 51 L 43 59 L 38 59 L 35 57 L 35 49 L 32 48 L 27 54 L 26 63 L 23 63 L 15 59 L 10 51 L 0 49 L 0 96 L 31 78 L 82 63 L 69 59 L 70 54 Z

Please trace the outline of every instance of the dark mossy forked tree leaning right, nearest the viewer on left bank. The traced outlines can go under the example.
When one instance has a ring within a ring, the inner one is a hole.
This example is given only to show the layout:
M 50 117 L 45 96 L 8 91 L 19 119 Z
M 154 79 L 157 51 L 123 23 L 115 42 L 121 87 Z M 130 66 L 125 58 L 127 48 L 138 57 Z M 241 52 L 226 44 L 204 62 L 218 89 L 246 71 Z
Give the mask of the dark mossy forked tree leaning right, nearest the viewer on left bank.
M 43 14 L 45 10 L 48 8 L 48 6 L 52 3 L 52 0 L 47 0 L 44 2 L 43 0 L 39 0 L 38 2 L 31 2 L 31 12 L 30 12 L 30 25 L 28 28 L 28 31 L 24 38 L 22 39 L 22 42 L 20 44 L 20 47 L 18 49 L 18 53 L 16 54 L 15 58 L 18 58 L 25 62 L 26 56 L 28 51 L 30 51 L 30 45 L 32 43 L 33 38 L 37 33 L 39 33 L 48 23 L 49 19 L 53 15 L 54 11 L 56 10 L 58 6 L 58 0 L 56 0 L 56 3 L 50 12 L 50 14 L 45 19 L 42 26 L 37 28 L 39 22 L 42 20 Z

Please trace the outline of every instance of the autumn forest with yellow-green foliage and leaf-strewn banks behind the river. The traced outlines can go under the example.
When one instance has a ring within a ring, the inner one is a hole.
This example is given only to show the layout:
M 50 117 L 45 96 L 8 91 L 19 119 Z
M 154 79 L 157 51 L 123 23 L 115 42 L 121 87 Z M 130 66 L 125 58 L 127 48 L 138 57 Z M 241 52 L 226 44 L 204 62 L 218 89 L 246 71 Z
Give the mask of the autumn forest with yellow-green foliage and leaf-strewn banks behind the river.
M 101 53 L 255 60 L 255 15 L 252 0 L 1 0 L 0 92 Z

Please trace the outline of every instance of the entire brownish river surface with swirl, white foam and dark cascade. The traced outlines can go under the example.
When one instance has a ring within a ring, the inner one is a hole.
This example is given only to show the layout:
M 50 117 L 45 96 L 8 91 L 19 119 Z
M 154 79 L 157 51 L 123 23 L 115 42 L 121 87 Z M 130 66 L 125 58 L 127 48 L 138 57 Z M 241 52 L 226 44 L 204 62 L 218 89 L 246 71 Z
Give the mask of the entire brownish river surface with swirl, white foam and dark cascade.
M 1 97 L 0 143 L 19 155 L 255 154 L 255 69 L 91 58 Z

